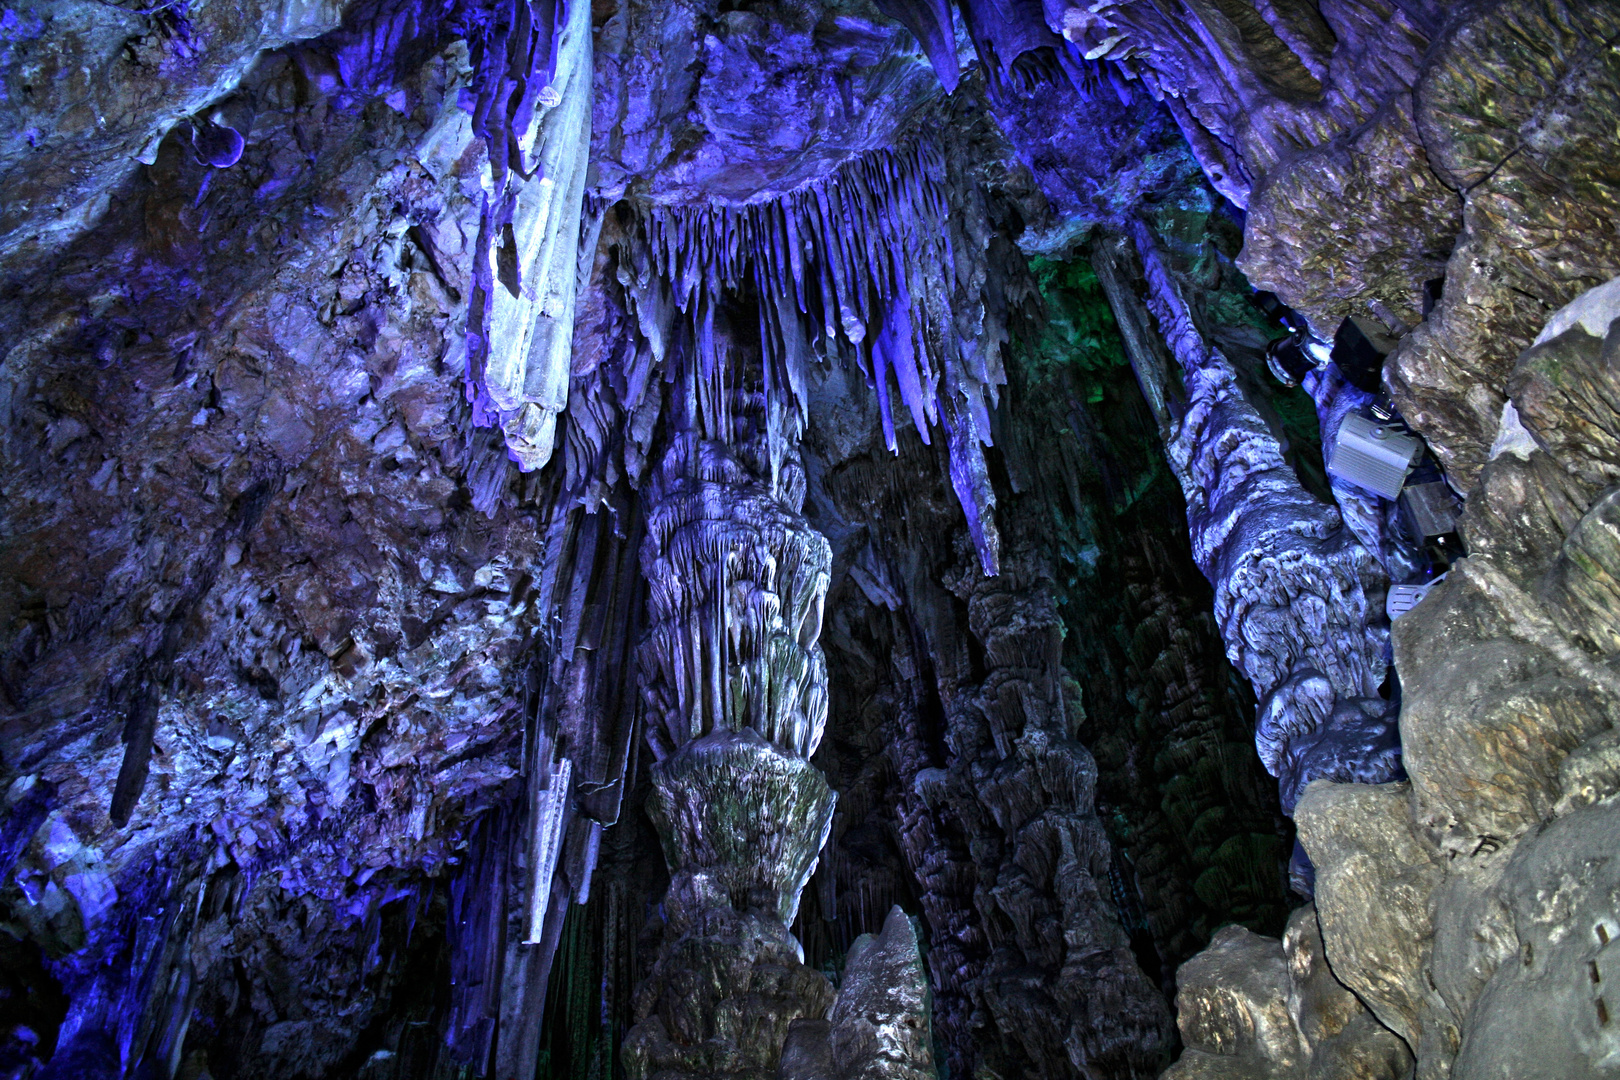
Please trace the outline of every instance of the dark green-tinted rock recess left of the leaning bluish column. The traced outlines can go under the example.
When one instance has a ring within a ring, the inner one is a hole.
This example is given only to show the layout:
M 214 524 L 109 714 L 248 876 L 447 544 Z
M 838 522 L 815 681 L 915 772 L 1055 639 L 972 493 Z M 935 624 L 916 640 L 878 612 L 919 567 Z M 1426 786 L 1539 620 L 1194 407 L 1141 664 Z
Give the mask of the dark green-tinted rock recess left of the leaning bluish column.
M 1092 267 L 1110 249 L 1119 248 L 1103 238 Z M 1105 267 L 1121 287 L 1124 262 Z M 1016 431 L 1003 449 L 1027 492 L 1027 528 L 1048 538 L 1069 628 L 1064 667 L 1084 706 L 1077 737 L 1097 759 L 1123 918 L 1150 978 L 1168 984 L 1221 923 L 1281 931 L 1277 871 L 1290 842 L 1275 784 L 1252 753 L 1254 699 L 1225 661 L 1181 486 L 1162 457 L 1162 418 L 1144 393 L 1162 387 L 1157 400 L 1173 406 L 1178 387 L 1168 363 L 1132 363 L 1123 334 L 1089 322 L 1087 309 L 1108 298 L 1102 272 L 1071 264 L 1047 279 L 1047 304 L 1061 317 L 1019 343 L 1016 371 L 1025 374 L 1009 393 L 1014 411 L 1051 416 L 1063 437 Z

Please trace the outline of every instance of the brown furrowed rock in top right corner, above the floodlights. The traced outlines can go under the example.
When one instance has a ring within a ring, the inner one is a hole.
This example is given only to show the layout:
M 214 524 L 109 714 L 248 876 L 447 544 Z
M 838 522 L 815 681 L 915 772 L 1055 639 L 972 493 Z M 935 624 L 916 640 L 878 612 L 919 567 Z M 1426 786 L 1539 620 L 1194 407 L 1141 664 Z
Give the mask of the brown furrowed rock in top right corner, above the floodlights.
M 1552 311 L 1620 272 L 1617 36 L 1604 5 L 1479 5 L 1416 87 L 1429 164 L 1463 193 L 1463 232 L 1388 385 L 1458 491 L 1489 458 L 1518 353 Z

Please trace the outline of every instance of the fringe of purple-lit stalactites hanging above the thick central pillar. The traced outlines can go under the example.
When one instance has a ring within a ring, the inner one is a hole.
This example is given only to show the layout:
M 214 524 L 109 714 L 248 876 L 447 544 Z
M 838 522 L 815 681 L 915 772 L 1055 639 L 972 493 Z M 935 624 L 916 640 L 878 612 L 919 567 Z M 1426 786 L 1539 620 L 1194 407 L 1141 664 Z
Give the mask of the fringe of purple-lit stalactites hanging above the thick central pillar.
M 876 393 L 889 450 L 899 408 L 925 444 L 943 427 L 951 484 L 995 573 L 983 447 L 1006 382 L 1008 311 L 1024 296 L 996 257 L 990 215 L 966 165 L 928 139 L 867 154 L 774 202 L 648 209 L 620 269 L 648 345 L 637 364 L 663 363 L 679 324 L 695 363 L 716 371 L 714 313 L 727 296 L 757 296 L 766 398 L 802 416 L 807 364 L 852 359 Z

